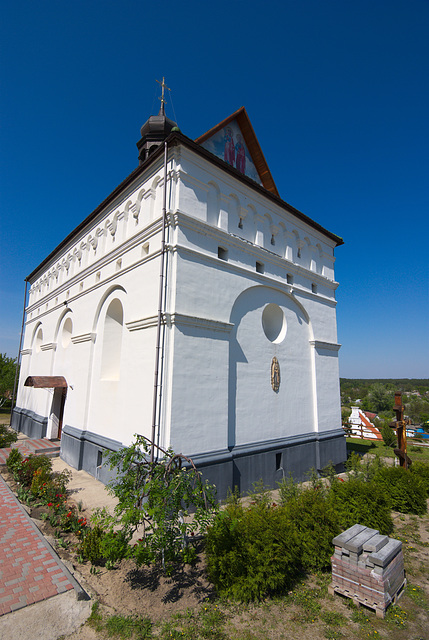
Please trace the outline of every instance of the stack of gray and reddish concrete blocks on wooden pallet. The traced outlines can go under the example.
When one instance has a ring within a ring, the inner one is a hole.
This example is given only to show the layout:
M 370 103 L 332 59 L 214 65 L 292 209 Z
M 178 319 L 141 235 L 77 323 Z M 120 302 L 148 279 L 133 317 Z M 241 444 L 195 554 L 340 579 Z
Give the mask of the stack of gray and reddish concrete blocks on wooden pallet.
M 351 598 L 384 618 L 406 585 L 402 542 L 376 529 L 355 524 L 332 540 L 332 583 L 329 593 Z

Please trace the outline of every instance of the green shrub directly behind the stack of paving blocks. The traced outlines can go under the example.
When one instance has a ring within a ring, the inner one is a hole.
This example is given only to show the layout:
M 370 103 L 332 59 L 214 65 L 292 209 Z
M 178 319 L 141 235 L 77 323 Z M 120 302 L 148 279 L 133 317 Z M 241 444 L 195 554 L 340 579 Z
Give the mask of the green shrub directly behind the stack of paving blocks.
M 335 482 L 330 496 L 341 530 L 358 523 L 385 535 L 393 531 L 389 500 L 376 482 L 350 477 L 347 482 Z

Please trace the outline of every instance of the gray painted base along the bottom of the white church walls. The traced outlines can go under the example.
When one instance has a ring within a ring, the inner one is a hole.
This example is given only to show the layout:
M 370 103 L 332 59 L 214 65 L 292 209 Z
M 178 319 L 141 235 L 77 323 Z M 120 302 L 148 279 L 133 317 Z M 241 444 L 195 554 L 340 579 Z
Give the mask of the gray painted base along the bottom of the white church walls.
M 15 409 L 12 416 L 13 428 L 34 438 L 46 435 L 46 422 L 46 418 L 19 409 Z M 116 440 L 65 426 L 60 455 L 71 467 L 83 469 L 107 484 L 115 471 L 106 465 L 106 450 L 118 451 L 121 446 Z M 226 498 L 228 490 L 234 487 L 245 494 L 259 480 L 272 489 L 289 474 L 299 482 L 307 479 L 310 469 L 320 471 L 330 463 L 341 471 L 346 458 L 346 439 L 342 429 L 192 456 L 203 479 L 216 485 L 219 500 Z

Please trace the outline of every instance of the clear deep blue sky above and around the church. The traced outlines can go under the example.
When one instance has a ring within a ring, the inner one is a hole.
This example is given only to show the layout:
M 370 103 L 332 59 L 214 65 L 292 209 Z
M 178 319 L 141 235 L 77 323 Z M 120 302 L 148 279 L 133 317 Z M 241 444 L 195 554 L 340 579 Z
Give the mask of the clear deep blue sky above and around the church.
M 343 377 L 429 377 L 427 0 L 15 0 L 0 26 L 0 352 L 24 278 L 138 164 L 244 105 L 281 197 L 336 250 Z M 174 107 L 174 111 L 172 109 Z

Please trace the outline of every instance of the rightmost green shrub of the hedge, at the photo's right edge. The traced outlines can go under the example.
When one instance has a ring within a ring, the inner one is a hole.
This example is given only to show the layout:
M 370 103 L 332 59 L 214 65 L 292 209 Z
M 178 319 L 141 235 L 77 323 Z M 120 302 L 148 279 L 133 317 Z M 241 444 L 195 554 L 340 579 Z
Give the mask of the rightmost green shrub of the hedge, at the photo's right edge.
M 401 513 L 422 515 L 427 511 L 427 490 L 424 480 L 417 473 L 402 467 L 385 467 L 375 476 L 375 481 L 387 496 L 389 506 Z

